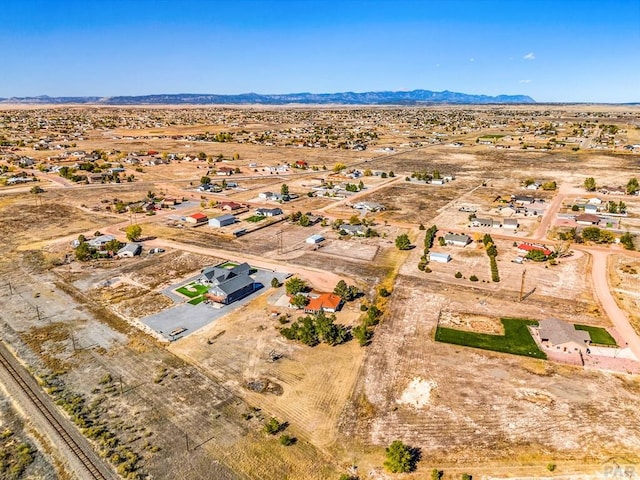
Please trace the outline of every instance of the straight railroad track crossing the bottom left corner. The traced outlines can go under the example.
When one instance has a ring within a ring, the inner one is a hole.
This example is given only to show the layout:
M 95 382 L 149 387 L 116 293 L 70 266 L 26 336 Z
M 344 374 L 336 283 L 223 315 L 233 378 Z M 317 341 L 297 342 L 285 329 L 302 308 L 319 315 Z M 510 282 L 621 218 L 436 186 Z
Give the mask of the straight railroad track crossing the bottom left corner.
M 46 402 L 42 401 L 36 389 L 30 384 L 30 382 L 24 379 L 23 376 L 27 375 L 27 373 L 21 372 L 20 368 L 15 368 L 13 366 L 11 360 L 8 358 L 8 354 L 5 351 L 4 346 L 0 348 L 0 366 L 5 369 L 9 373 L 9 375 L 11 375 L 20 389 L 29 397 L 35 407 L 45 417 L 49 425 L 53 427 L 62 441 L 69 447 L 69 449 L 74 453 L 80 463 L 85 467 L 90 477 L 82 478 L 91 478 L 95 480 L 112 480 L 113 477 L 105 475 L 102 472 L 100 468 L 101 464 L 97 464 L 97 462 L 92 459 L 90 455 L 87 455 L 82 445 L 78 443 L 73 434 L 69 431 L 69 427 L 65 426 L 63 422 L 58 419 L 58 414 L 54 411 L 53 407 L 47 405 Z

